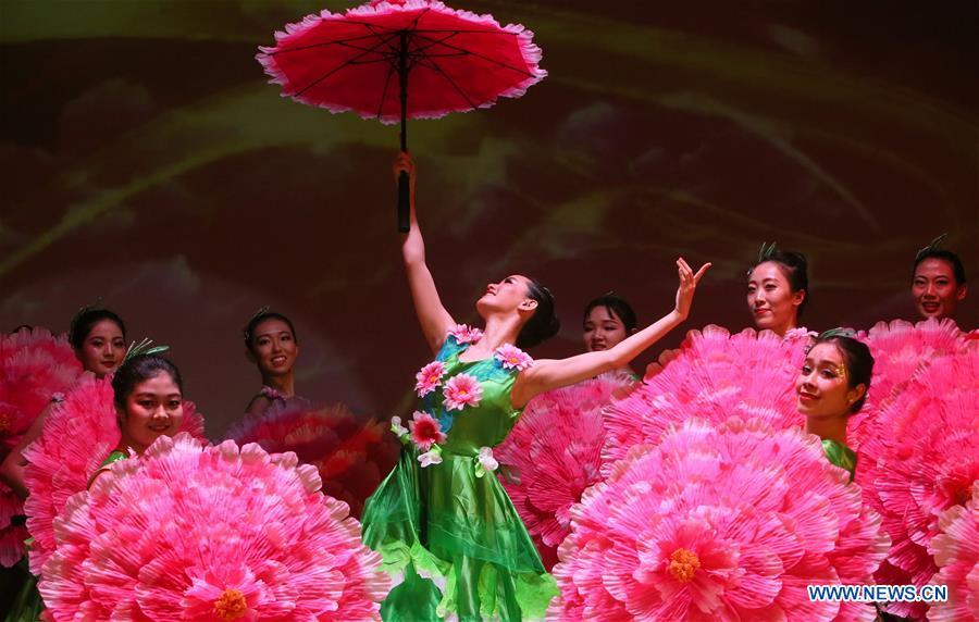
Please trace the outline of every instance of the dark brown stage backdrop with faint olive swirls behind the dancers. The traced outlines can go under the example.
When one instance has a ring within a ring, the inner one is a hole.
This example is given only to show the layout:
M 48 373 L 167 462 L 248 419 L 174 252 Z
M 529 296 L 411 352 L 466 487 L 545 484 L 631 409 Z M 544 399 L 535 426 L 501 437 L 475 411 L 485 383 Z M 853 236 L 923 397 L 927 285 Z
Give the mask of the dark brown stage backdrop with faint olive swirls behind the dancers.
M 749 324 L 766 240 L 810 258 L 816 329 L 914 318 L 912 260 L 942 232 L 979 275 L 975 1 L 457 7 L 533 29 L 550 74 L 411 127 L 457 320 L 487 282 L 534 275 L 563 326 L 533 353 L 571 354 L 590 298 L 616 290 L 648 322 L 677 256 L 712 261 L 676 347 Z M 322 8 L 2 0 L 0 327 L 64 331 L 101 301 L 172 346 L 219 437 L 259 388 L 240 331 L 269 304 L 296 322 L 300 394 L 404 410 L 430 353 L 395 232 L 397 129 L 283 99 L 253 59 Z M 961 325 L 977 310 L 979 282 Z

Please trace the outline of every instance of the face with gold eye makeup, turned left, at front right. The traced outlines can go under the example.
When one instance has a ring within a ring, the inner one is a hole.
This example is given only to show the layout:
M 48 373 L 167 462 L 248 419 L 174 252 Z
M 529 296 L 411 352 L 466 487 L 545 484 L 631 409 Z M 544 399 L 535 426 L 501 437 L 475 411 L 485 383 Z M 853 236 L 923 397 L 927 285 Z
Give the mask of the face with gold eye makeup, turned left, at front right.
M 843 353 L 833 344 L 817 344 L 806 354 L 795 381 L 796 408 L 807 418 L 848 416 L 863 395 L 863 385 L 850 387 Z

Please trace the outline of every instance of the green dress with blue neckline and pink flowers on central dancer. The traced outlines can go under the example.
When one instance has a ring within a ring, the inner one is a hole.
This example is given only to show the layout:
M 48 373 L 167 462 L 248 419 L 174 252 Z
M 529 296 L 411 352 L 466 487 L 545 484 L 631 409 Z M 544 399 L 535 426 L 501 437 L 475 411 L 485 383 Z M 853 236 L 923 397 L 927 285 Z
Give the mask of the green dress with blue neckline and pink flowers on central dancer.
M 381 607 L 385 621 L 542 619 L 558 594 L 493 473 L 492 448 L 520 415 L 510 403 L 519 369 L 505 364 L 500 352 L 530 358 L 505 346 L 488 359 L 462 362 L 464 341 L 446 338 L 435 359 L 444 365 L 441 384 L 421 398 L 414 415 L 416 422 L 431 415 L 445 438 L 424 451 L 396 422 L 405 444 L 400 459 L 364 507 L 364 544 L 382 553 L 386 571 L 404 572 Z M 446 385 L 459 374 L 475 378 L 482 396 L 449 410 Z M 441 462 L 423 467 L 419 457 L 433 453 Z

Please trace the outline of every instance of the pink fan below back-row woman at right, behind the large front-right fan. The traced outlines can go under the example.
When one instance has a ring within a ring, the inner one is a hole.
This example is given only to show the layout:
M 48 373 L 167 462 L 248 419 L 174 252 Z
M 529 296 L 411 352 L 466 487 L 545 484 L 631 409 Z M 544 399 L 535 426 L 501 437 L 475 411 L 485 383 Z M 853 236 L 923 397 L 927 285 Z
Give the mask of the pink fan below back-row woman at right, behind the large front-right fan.
M 649 365 L 644 385 L 608 409 L 604 460 L 620 460 L 634 445 L 656 444 L 671 424 L 691 416 L 800 426 L 795 378 L 805 359 L 804 337 L 780 339 L 751 328 L 732 335 L 718 326 L 691 331 L 679 350 Z

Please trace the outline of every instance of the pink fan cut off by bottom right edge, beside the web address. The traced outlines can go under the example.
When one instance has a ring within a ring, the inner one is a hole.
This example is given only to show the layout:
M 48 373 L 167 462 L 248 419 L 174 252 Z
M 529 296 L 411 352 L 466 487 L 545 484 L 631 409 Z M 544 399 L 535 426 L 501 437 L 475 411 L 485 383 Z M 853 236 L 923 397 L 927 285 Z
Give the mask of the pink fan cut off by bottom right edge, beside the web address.
M 939 519 L 941 533 L 928 551 L 941 569 L 932 583 L 946 585 L 949 599 L 935 602 L 928 619 L 940 622 L 979 620 L 979 484 L 965 506 L 949 508 Z

